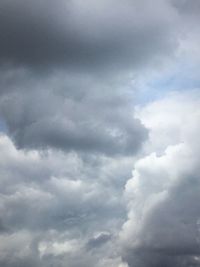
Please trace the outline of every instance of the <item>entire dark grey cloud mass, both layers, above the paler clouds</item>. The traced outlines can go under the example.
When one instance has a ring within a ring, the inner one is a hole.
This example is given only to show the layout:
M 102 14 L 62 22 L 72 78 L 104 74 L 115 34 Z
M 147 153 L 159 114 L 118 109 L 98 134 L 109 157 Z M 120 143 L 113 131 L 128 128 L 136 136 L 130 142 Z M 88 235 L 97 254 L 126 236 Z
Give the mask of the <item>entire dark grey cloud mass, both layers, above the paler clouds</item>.
M 0 115 L 18 148 L 138 152 L 147 130 L 133 117 L 129 72 L 176 47 L 176 14 L 156 5 L 1 1 Z

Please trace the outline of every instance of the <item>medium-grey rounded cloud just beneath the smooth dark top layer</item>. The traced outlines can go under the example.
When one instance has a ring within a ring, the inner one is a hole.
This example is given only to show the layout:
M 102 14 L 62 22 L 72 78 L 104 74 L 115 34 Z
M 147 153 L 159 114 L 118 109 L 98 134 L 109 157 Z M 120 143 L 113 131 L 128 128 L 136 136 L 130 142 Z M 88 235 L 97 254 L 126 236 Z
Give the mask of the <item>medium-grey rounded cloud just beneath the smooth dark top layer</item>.
M 129 155 L 147 138 L 129 89 L 65 73 L 3 74 L 0 114 L 19 148 Z

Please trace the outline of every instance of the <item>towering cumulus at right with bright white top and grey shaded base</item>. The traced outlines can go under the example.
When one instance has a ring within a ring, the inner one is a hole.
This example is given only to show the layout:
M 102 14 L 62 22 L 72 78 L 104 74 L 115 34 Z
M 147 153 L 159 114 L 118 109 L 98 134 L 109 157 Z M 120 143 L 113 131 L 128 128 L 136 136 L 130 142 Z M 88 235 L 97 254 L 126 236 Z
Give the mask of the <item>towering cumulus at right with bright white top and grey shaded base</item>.
M 151 153 L 136 162 L 126 184 L 129 215 L 121 236 L 130 267 L 199 265 L 198 106 L 193 93 L 172 95 L 141 111 Z

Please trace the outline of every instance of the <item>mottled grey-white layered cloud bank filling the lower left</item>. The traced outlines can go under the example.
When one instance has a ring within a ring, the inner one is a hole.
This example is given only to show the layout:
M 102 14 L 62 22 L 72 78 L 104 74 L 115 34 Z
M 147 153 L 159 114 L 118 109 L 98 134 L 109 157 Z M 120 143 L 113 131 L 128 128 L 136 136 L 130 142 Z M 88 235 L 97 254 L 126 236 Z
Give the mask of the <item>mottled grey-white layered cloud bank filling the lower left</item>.
M 111 236 L 125 216 L 122 187 L 107 181 L 109 177 L 122 183 L 121 159 L 17 150 L 5 134 L 0 136 L 0 150 L 0 264 L 121 263 L 113 250 L 116 237 Z M 125 176 L 131 162 L 124 166 Z

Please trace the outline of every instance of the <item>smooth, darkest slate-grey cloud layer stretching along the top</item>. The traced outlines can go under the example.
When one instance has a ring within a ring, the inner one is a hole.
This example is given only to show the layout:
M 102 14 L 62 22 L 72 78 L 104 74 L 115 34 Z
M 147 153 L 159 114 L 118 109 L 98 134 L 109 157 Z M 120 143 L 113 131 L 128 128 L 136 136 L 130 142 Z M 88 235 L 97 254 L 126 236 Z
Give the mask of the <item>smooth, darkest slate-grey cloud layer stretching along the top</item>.
M 145 1 L 2 0 L 1 63 L 81 71 L 147 64 L 174 47 L 173 10 L 156 5 L 158 14 Z

